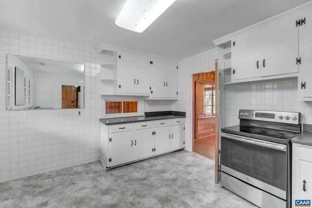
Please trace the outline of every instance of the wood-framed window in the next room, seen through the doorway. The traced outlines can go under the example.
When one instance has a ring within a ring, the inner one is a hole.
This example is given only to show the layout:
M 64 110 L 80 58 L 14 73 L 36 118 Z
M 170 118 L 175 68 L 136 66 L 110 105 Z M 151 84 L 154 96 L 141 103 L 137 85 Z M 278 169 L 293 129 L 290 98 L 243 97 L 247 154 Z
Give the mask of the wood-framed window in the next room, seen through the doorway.
M 215 85 L 198 84 L 198 117 L 215 116 Z

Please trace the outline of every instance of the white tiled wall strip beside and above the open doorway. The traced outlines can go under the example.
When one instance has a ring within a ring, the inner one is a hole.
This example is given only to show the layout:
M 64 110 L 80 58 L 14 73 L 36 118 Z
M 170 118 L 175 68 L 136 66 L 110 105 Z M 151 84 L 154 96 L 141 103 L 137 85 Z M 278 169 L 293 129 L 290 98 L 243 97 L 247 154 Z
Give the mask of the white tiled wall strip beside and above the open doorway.
M 216 47 L 212 50 L 187 57 L 178 63 L 178 100 L 172 101 L 172 111 L 186 112 L 185 120 L 185 150 L 192 151 L 193 132 L 193 85 L 192 75 L 215 70 L 215 59 L 223 66 L 224 50 Z

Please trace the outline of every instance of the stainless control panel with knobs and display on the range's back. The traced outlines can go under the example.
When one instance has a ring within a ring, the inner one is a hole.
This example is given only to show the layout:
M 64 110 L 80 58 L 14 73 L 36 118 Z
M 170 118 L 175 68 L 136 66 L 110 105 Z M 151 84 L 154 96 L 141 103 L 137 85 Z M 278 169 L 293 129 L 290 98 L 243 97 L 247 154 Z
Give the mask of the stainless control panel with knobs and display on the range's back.
M 300 113 L 281 111 L 239 110 L 240 119 L 300 124 Z

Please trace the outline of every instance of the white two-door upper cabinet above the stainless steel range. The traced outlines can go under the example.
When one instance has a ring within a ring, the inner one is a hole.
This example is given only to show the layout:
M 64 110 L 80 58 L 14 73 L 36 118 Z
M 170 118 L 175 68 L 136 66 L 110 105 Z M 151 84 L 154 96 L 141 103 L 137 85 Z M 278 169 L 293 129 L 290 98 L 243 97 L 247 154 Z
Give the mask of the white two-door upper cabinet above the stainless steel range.
M 234 37 L 232 81 L 298 72 L 298 15 Z

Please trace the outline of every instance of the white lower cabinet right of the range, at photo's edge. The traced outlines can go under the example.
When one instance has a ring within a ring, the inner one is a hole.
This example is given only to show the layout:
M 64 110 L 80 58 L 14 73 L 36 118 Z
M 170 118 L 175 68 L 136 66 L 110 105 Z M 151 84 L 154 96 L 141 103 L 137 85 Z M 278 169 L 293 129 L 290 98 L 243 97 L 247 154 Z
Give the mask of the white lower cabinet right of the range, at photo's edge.
M 295 200 L 312 201 L 312 146 L 292 144 L 292 207 Z

